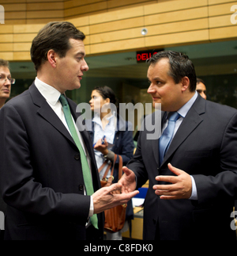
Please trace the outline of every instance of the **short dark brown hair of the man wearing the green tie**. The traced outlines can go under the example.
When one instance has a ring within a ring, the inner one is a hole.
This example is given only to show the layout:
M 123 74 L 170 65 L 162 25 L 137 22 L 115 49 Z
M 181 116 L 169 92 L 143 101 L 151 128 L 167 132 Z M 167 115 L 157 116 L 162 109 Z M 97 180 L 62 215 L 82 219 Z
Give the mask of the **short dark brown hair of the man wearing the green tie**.
M 60 58 L 66 56 L 70 50 L 69 40 L 85 40 L 85 34 L 68 21 L 52 21 L 40 29 L 32 41 L 31 58 L 36 71 L 47 61 L 47 52 L 51 49 L 58 53 Z

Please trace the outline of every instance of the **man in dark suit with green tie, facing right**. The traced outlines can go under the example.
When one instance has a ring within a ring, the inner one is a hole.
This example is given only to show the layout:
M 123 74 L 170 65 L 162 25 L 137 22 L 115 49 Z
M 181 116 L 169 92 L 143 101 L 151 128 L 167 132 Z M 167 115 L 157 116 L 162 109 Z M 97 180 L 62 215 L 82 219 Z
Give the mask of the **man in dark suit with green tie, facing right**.
M 72 125 L 64 114 L 62 94 L 65 99 L 66 90 L 79 89 L 88 71 L 84 39 L 70 22 L 45 25 L 32 41 L 35 82 L 1 109 L 5 239 L 102 239 L 101 212 L 136 194 L 111 195 L 121 188 L 118 184 L 100 189 L 92 143 L 88 132 L 75 125 L 80 126 L 77 105 L 70 99 Z

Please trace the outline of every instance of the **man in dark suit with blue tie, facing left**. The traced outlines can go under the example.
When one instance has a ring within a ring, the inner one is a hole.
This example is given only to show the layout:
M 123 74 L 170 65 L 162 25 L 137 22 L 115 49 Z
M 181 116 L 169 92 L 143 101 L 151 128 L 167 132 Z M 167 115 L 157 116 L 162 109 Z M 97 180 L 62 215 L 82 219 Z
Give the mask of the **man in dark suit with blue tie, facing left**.
M 153 103 L 161 103 L 161 136 L 147 139 L 152 114 L 120 180 L 128 192 L 149 179 L 144 239 L 235 239 L 230 216 L 237 193 L 236 109 L 205 101 L 195 91 L 193 63 L 179 52 L 152 56 L 148 78 Z M 173 112 L 179 113 L 178 119 L 160 159 Z

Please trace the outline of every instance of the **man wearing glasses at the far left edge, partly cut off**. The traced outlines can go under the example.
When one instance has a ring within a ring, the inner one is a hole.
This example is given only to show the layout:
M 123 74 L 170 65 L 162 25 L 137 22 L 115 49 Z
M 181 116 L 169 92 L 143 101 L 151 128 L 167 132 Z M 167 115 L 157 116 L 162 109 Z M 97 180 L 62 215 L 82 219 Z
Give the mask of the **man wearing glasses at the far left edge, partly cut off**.
M 11 93 L 11 85 L 15 83 L 15 79 L 11 78 L 9 71 L 9 62 L 0 59 L 0 109 L 5 104 Z

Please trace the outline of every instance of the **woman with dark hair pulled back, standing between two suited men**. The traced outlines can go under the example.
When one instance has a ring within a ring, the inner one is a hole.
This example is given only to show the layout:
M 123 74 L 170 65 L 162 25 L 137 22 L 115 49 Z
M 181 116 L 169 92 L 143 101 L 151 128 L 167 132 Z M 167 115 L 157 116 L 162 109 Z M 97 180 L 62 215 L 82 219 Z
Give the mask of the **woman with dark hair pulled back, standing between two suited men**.
M 115 93 L 110 87 L 96 87 L 92 90 L 91 97 L 89 103 L 94 112 L 94 117 L 92 120 L 86 120 L 86 122 L 87 124 L 88 122 L 92 122 L 89 124 L 91 125 L 90 127 L 92 127 L 89 132 L 94 145 L 98 169 L 102 166 L 105 160 L 114 162 L 115 154 L 121 155 L 122 165 L 126 165 L 134 153 L 134 140 L 131 124 L 123 120 L 122 117 L 117 114 Z M 104 166 L 100 171 L 100 179 L 103 178 L 106 169 L 107 166 Z M 110 176 L 110 172 L 107 174 L 107 177 Z M 113 176 L 113 182 L 118 182 L 119 158 L 115 161 Z M 126 220 L 132 220 L 133 218 L 134 211 L 132 203 L 129 201 L 126 208 Z M 107 231 L 106 239 L 121 240 L 122 231 L 113 233 Z

